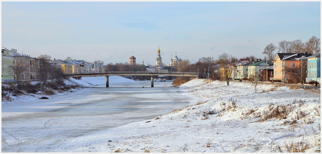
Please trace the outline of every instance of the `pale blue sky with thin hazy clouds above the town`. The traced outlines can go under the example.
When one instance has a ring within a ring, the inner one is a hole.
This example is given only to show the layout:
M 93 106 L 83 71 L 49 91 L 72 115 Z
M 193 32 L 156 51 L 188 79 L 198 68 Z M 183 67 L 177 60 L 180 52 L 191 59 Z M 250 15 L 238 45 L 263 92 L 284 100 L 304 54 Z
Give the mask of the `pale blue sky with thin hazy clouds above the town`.
M 279 41 L 320 38 L 317 2 L 1 2 L 2 47 L 52 59 L 156 65 L 223 53 L 240 59 Z

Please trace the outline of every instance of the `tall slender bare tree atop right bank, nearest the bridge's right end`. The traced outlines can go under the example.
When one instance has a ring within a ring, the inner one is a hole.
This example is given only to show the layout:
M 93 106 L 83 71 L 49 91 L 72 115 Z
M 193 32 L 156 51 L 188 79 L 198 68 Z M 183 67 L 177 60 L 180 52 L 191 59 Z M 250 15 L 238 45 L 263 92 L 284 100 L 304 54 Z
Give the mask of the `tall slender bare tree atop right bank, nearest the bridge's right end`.
M 227 86 L 229 86 L 230 76 L 232 74 L 232 69 L 234 65 L 231 65 L 235 58 L 232 55 L 223 53 L 218 57 L 218 64 L 220 64 L 220 68 L 222 69 L 223 77 L 227 82 Z

